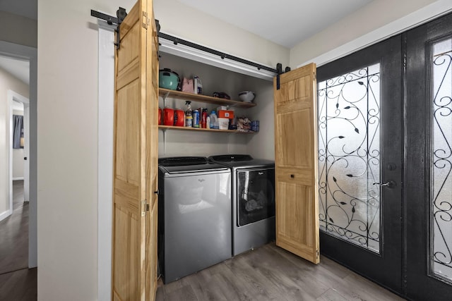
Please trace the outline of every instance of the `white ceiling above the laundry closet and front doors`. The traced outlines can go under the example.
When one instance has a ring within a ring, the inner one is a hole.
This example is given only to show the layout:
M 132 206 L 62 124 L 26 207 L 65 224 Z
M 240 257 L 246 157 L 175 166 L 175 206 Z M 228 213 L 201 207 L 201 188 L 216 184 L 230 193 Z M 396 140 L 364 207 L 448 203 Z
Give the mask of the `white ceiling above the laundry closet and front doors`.
M 178 0 L 227 23 L 292 48 L 372 0 Z

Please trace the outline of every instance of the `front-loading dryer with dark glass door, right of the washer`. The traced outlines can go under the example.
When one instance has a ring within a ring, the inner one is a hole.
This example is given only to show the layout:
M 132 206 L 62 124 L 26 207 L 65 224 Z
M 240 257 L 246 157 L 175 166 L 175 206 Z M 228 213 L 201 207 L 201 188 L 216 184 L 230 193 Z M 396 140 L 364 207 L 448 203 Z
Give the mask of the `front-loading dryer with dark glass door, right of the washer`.
M 232 170 L 232 255 L 275 240 L 275 162 L 248 154 L 208 159 Z

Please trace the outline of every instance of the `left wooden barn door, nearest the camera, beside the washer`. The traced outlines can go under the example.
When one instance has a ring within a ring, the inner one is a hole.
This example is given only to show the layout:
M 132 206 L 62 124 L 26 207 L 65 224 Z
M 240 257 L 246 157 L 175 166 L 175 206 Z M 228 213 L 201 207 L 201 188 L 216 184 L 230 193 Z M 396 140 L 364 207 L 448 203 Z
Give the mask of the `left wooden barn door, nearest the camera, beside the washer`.
M 152 0 L 120 25 L 115 54 L 113 300 L 157 290 L 157 32 Z

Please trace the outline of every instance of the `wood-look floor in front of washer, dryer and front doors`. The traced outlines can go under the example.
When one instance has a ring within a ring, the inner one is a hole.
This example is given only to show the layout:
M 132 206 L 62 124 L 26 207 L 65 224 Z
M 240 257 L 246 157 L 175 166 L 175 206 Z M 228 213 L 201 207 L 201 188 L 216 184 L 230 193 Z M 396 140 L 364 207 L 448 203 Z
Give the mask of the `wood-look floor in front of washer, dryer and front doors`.
M 331 259 L 311 264 L 274 243 L 162 285 L 157 300 L 404 300 Z

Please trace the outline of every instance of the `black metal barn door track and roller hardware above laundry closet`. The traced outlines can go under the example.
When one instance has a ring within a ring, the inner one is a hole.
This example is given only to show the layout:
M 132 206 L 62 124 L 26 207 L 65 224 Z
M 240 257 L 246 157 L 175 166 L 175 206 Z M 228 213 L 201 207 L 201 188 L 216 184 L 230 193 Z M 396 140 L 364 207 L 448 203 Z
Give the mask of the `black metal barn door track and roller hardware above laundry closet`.
M 115 45 L 117 45 L 117 49 L 119 49 L 119 25 L 121 24 L 122 20 L 124 20 L 124 18 L 126 18 L 126 16 L 127 16 L 126 10 L 124 8 L 120 7 L 119 10 L 117 11 L 117 18 L 114 18 L 112 16 L 108 16 L 108 15 L 105 15 L 105 13 L 99 13 L 99 12 L 93 11 L 93 10 L 91 10 L 91 16 L 96 17 L 96 18 L 100 18 L 102 20 L 107 20 L 107 23 L 110 24 L 110 25 L 112 23 L 115 23 L 115 24 L 118 25 L 117 30 L 116 30 L 117 33 L 118 33 L 118 35 L 117 35 L 117 42 L 115 43 Z M 206 51 L 206 52 L 208 52 L 210 54 L 214 54 L 214 55 L 220 56 L 221 59 L 230 59 L 232 61 L 237 61 L 239 63 L 244 63 L 246 65 L 256 67 L 258 70 L 263 69 L 263 70 L 267 70 L 267 71 L 273 72 L 276 75 L 278 75 L 277 76 L 278 77 L 278 81 L 279 81 L 279 75 L 284 73 L 283 72 L 283 66 L 280 63 L 276 64 L 276 69 L 273 69 L 273 68 L 270 68 L 268 66 L 263 66 L 261 64 L 254 63 L 252 61 L 247 61 L 246 59 L 241 59 L 241 58 L 239 58 L 237 56 L 232 56 L 230 54 L 225 54 L 224 52 L 221 52 L 221 51 L 218 51 L 218 50 L 215 50 L 215 49 L 211 49 L 211 48 L 208 48 L 208 47 L 204 47 L 204 46 L 201 46 L 199 44 L 195 44 L 195 43 L 186 41 L 185 39 L 180 39 L 179 37 L 173 37 L 172 35 L 167 35 L 167 34 L 165 34 L 163 32 L 160 32 L 160 23 L 158 22 L 158 20 L 155 20 L 155 23 L 157 23 L 157 36 L 162 38 L 162 39 L 167 39 L 169 41 L 172 41 L 174 43 L 174 45 L 183 44 L 183 45 L 186 45 L 186 46 L 191 47 L 191 48 L 195 48 L 195 49 L 198 49 L 198 50 L 201 50 L 201 51 Z M 290 67 L 286 67 L 285 68 L 285 72 L 287 72 L 287 71 L 290 71 Z

